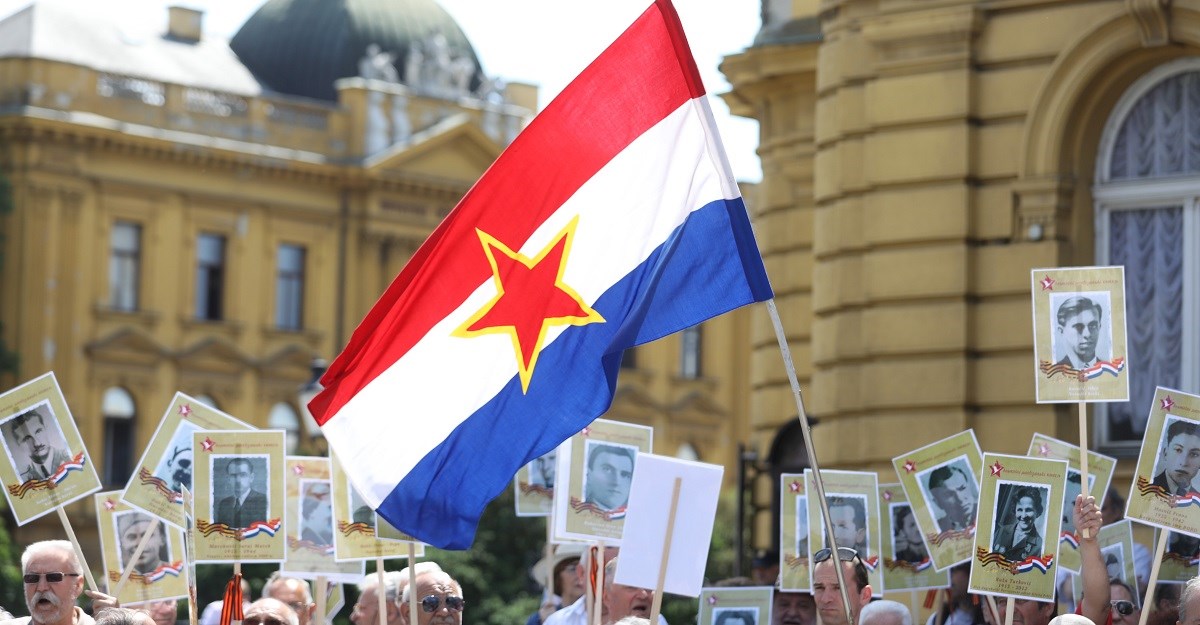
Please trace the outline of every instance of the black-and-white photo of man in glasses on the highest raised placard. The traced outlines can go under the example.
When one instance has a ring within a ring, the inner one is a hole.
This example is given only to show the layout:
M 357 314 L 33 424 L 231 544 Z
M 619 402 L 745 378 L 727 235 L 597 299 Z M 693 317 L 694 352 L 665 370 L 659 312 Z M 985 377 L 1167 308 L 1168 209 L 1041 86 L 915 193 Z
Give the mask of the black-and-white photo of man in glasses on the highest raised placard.
M 1111 360 L 1111 310 L 1108 292 L 1050 295 L 1050 347 L 1055 363 L 1082 371 Z

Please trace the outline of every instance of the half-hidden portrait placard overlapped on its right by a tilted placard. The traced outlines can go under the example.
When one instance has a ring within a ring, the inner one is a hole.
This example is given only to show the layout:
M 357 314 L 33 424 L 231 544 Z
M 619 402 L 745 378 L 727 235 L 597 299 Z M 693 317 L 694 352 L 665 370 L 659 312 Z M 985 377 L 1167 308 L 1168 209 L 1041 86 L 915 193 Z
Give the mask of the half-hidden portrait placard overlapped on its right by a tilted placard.
M 950 585 L 949 571 L 938 572 L 934 566 L 925 533 L 899 483 L 880 485 L 880 536 L 884 593 Z

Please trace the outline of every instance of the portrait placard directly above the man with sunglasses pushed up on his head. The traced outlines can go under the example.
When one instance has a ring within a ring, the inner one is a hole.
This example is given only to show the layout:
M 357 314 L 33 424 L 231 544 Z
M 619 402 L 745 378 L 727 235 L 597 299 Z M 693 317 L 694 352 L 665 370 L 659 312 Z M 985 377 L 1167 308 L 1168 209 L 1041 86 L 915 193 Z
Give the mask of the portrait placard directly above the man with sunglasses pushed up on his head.
M 812 557 L 826 547 L 826 524 L 817 498 L 816 473 L 804 471 L 804 488 L 809 493 L 809 579 L 812 578 Z M 866 565 L 866 578 L 872 596 L 883 595 L 883 541 L 880 529 L 880 482 L 875 471 L 821 470 L 833 537 L 838 547 L 858 552 Z

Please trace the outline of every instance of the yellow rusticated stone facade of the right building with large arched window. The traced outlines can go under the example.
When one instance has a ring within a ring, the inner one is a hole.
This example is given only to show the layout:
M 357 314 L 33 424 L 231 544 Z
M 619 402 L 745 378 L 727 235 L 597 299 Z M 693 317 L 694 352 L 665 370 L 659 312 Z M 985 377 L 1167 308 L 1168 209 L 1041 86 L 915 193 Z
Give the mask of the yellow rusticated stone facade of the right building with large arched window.
M 973 428 L 1079 440 L 1038 405 L 1030 271 L 1122 264 L 1132 401 L 1090 407 L 1128 492 L 1154 385 L 1200 392 L 1200 2 L 764 0 L 725 59 L 761 125 L 748 199 L 822 467 L 878 470 Z M 796 409 L 751 330 L 754 440 Z M 760 488 L 760 503 L 770 497 Z M 772 543 L 760 509 L 755 540 Z

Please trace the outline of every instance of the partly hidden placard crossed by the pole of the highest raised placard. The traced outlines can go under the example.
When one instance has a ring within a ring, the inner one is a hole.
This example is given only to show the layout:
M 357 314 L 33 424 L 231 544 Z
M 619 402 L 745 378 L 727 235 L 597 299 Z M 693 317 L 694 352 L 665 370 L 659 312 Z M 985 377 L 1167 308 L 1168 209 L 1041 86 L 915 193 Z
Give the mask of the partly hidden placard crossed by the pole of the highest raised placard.
M 1079 445 L 1034 433 L 1026 455 L 1033 458 L 1067 461 L 1067 488 L 1062 494 L 1062 530 L 1058 536 L 1058 566 L 1078 573 L 1080 566 L 1079 534 L 1075 530 L 1073 511 L 1075 495 L 1082 492 Z M 1087 493 L 1096 498 L 1096 505 L 1104 504 L 1104 493 L 1109 492 L 1109 482 L 1112 480 L 1112 471 L 1116 470 L 1116 458 L 1094 451 L 1087 452 Z

